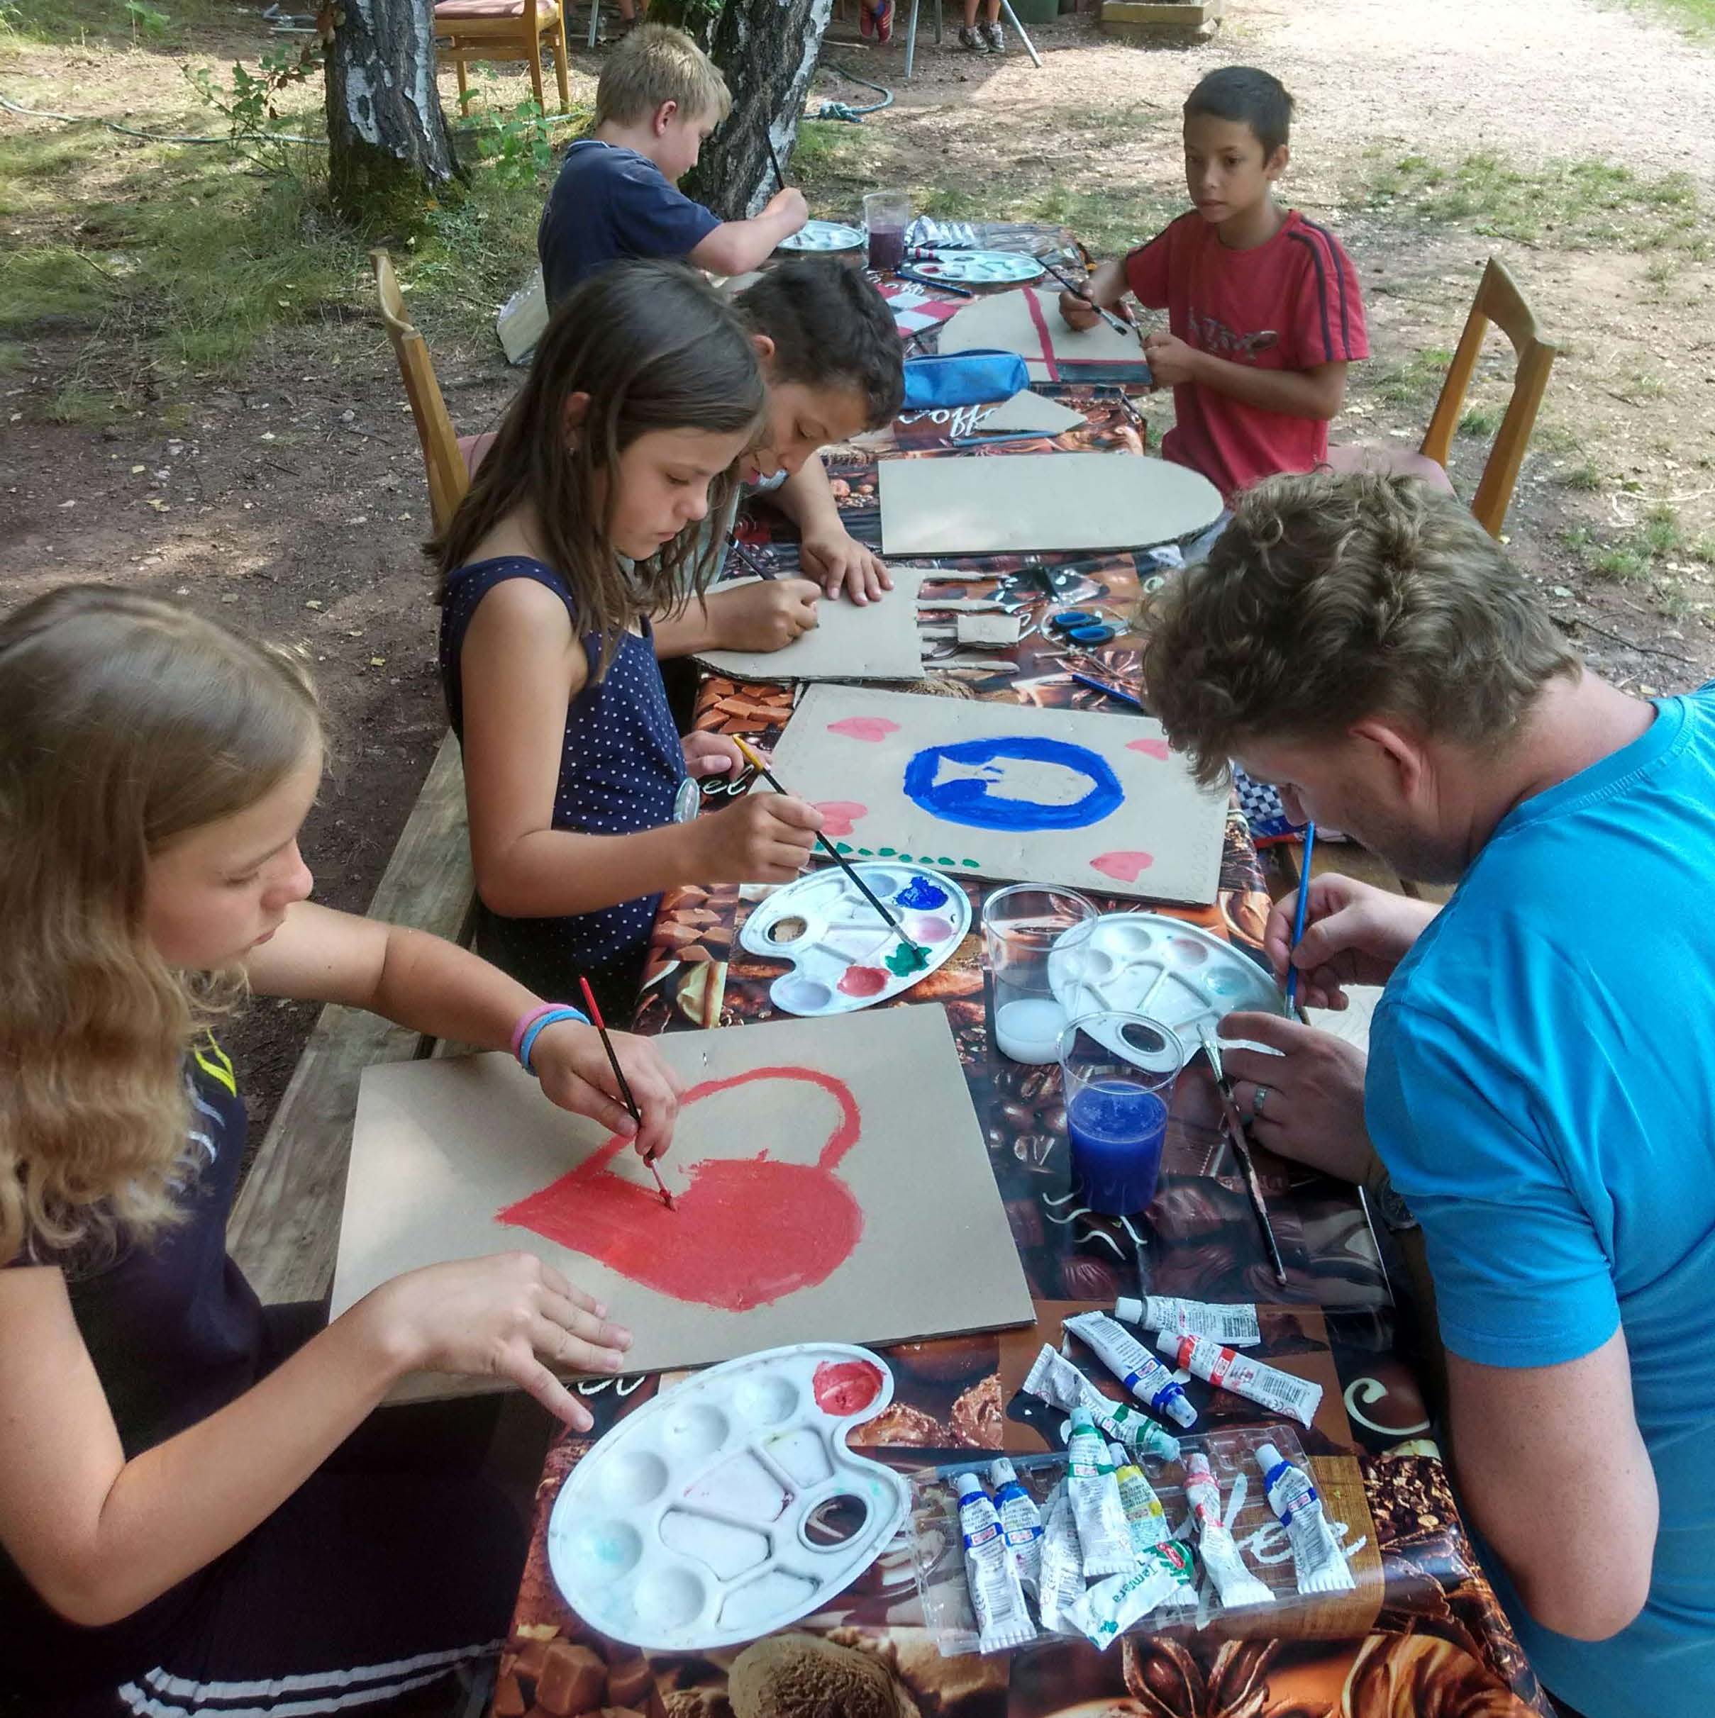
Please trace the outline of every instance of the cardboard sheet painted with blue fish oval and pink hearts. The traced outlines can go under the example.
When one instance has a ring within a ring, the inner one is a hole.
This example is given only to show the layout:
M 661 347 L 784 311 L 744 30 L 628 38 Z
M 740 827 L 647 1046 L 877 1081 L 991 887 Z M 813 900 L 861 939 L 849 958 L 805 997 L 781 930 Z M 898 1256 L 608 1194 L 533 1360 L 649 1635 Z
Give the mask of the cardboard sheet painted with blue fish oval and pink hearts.
M 1220 885 L 1227 795 L 1148 716 L 813 685 L 773 773 L 854 857 L 1196 905 Z

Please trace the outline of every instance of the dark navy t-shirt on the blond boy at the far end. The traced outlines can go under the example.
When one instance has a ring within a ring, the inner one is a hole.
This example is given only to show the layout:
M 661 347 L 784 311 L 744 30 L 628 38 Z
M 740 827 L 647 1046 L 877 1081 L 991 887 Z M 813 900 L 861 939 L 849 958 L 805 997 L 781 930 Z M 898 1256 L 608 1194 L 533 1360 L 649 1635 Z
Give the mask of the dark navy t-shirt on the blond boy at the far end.
M 646 155 L 581 137 L 565 151 L 536 228 L 548 309 L 608 263 L 689 256 L 718 225 L 718 216 L 675 189 Z

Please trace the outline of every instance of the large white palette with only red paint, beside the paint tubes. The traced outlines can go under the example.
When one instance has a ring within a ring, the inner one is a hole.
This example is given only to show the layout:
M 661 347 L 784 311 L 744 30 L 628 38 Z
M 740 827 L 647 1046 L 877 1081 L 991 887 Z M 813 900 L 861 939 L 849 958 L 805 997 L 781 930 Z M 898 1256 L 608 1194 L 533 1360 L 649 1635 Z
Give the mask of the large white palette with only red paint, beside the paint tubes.
M 868 1349 L 809 1342 L 727 1361 L 627 1416 L 548 1517 L 577 1615 L 656 1653 L 754 1641 L 808 1617 L 880 1555 L 906 1481 L 845 1448 L 894 1397 Z

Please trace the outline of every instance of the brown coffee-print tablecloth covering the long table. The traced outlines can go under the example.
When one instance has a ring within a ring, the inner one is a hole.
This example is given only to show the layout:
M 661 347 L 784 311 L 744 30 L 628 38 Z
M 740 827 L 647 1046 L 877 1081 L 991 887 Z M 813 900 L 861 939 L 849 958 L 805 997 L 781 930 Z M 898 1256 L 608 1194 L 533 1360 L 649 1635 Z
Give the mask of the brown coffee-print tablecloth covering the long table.
M 1134 414 L 1114 390 L 1072 387 L 1059 397 L 1079 405 L 1086 428 L 1043 447 L 1131 447 L 1141 452 Z M 933 424 L 897 438 L 897 452 L 933 457 Z M 1009 445 L 993 457 L 1031 450 Z M 875 467 L 866 455 L 830 460 L 852 533 L 878 541 Z M 796 546 L 780 522 L 753 522 L 748 541 L 780 570 L 796 569 Z M 1053 557 L 1047 557 L 1053 562 Z M 1072 564 L 1072 557 L 1059 557 Z M 993 570 L 1016 560 L 993 557 Z M 1076 557 L 1084 582 L 1072 600 L 1129 606 L 1146 557 Z M 1029 639 L 1021 670 L 969 675 L 978 696 L 1045 706 L 1115 708 L 1072 684 L 1055 646 Z M 1136 653 L 1107 648 L 1108 679 L 1134 680 Z M 792 706 L 789 687 L 708 677 L 698 725 L 742 732 L 766 744 Z M 1339 852 L 1323 864 L 1342 868 Z M 1275 864 L 1275 881 L 1292 881 Z M 1320 866 L 1318 866 L 1320 869 Z M 1397 880 L 1385 876 L 1388 886 Z M 962 881 L 973 907 L 995 886 Z M 1277 888 L 1279 892 L 1279 888 Z M 650 1033 L 742 1026 L 773 1017 L 768 984 L 775 962 L 746 955 L 737 929 L 765 890 L 687 885 L 668 892 L 655 926 L 638 1029 Z M 1136 902 L 1102 900 L 1103 911 Z M 1225 936 L 1260 957 L 1270 888 L 1242 813 L 1229 811 L 1220 890 L 1206 909 L 1163 909 Z M 973 917 L 973 924 L 976 919 Z M 1409 1311 L 1395 1301 L 1361 1194 L 1258 1153 L 1258 1168 L 1287 1268 L 1275 1282 L 1242 1182 L 1218 1124 L 1201 1063 L 1181 1075 L 1163 1153 L 1163 1173 L 1144 1220 L 1102 1218 L 1069 1197 L 1067 1141 L 1059 1075 L 998 1057 L 990 1046 L 988 1005 L 973 933 L 959 953 L 899 1003 L 945 1007 L 971 1084 L 995 1180 L 1036 1301 L 1033 1328 L 900 1343 L 882 1349 L 894 1402 L 859 1428 L 854 1447 L 900 1471 L 955 1460 L 983 1465 L 1000 1452 L 1059 1447 L 1050 1416 L 1019 1393 L 1043 1342 L 1059 1345 L 1065 1314 L 1112 1307 L 1136 1294 L 1139 1268 L 1153 1294 L 1205 1301 L 1254 1301 L 1263 1307 L 1260 1357 L 1323 1383 L 1315 1424 L 1299 1428 L 1330 1514 L 1363 1539 L 1352 1567 L 1356 1594 L 1321 1610 L 1294 1608 L 1273 1636 L 1229 1641 L 1220 1629 L 1126 1637 L 1096 1653 L 1055 1639 L 1017 1654 L 942 1658 L 923 1627 L 911 1558 L 899 1541 L 837 1601 L 797 1629 L 873 1654 L 899 1678 L 916 1709 L 933 1718 L 1524 1718 L 1548 1713 L 1523 1651 L 1469 1543 L 1447 1469 L 1430 1441 L 1411 1357 Z M 1091 1376 L 1098 1376 L 1093 1369 Z M 529 1563 L 502 1656 L 497 1718 L 569 1718 L 595 1699 L 658 1718 L 730 1718 L 727 1675 L 742 1648 L 698 1654 L 639 1654 L 595 1634 L 562 1601 L 548 1574 L 546 1522 L 565 1476 L 595 1440 L 631 1409 L 670 1386 L 672 1376 L 596 1380 L 581 1386 L 596 1416 L 588 1436 L 562 1436 L 548 1452 L 536 1493 Z M 1112 1380 L 1098 1376 L 1110 1392 Z M 1196 1431 L 1253 1426 L 1268 1416 L 1225 1392 L 1191 1385 L 1201 1409 Z M 986 1452 L 986 1453 L 983 1453 Z M 596 1697 L 600 1691 L 600 1697 Z

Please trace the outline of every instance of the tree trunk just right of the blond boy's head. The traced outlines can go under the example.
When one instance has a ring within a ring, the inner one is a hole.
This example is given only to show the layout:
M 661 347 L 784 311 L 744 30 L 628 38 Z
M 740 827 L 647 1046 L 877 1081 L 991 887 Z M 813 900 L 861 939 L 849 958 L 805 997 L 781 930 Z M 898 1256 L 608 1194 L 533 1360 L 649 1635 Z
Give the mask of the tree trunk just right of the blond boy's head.
M 682 189 L 722 220 L 754 215 L 780 189 L 833 0 L 727 0 L 710 58 L 732 91 L 732 113 L 703 148 Z

